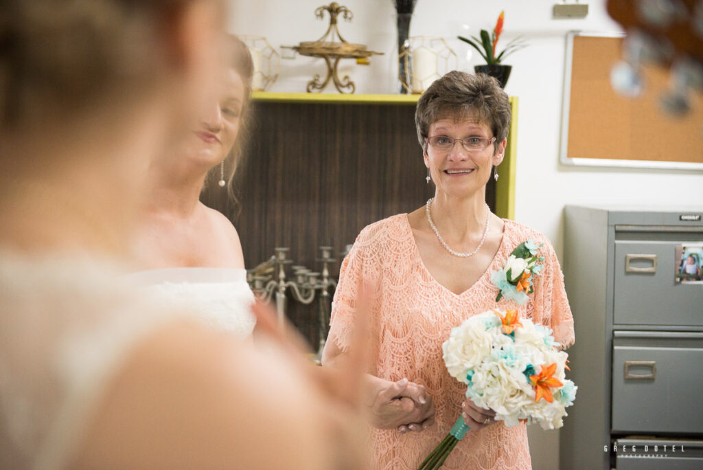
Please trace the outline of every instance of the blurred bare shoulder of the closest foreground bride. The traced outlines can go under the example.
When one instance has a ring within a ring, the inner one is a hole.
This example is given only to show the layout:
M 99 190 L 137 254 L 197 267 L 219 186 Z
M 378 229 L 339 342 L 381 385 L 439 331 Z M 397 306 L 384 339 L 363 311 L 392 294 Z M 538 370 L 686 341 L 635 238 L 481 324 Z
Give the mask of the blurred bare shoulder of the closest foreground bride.
M 283 354 L 175 323 L 124 362 L 74 466 L 325 469 L 316 396 Z

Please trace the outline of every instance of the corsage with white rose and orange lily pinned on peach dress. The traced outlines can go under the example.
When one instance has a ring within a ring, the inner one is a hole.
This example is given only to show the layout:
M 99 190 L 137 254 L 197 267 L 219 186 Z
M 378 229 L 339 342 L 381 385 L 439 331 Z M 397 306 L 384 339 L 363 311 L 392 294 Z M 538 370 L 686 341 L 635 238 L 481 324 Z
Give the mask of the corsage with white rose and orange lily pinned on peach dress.
M 537 255 L 537 250 L 543 244 L 537 244 L 532 240 L 520 243 L 505 260 L 503 269 L 491 274 L 491 282 L 500 289 L 496 302 L 503 297 L 515 300 L 519 304 L 527 302 L 527 294 L 534 291 L 532 287 L 533 275 L 540 274 L 543 268 L 543 265 L 537 263 L 544 261 L 543 256 Z

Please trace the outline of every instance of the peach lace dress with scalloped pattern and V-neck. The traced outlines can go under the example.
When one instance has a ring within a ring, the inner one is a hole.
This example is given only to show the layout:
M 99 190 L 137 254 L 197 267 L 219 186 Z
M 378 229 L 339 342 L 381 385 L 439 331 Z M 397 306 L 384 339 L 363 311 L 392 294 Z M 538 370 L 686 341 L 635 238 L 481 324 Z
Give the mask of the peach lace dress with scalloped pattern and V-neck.
M 441 286 L 427 271 L 406 214 L 364 228 L 344 258 L 328 341 L 347 350 L 357 286 L 362 279 L 370 282 L 376 294 L 372 303 L 375 367 L 369 373 L 390 381 L 407 377 L 422 384 L 432 395 L 436 408 L 434 426 L 422 433 L 373 429 L 373 468 L 417 469 L 459 417 L 465 386 L 446 371 L 441 344 L 464 319 L 492 308 L 517 308 L 521 316 L 553 329 L 555 341 L 563 347 L 574 343 L 574 321 L 551 244 L 529 227 L 512 220 L 504 222 L 496 257 L 482 277 L 460 295 Z M 524 305 L 505 299 L 496 303 L 498 288 L 491 284 L 491 272 L 500 269 L 510 252 L 527 239 L 544 243 L 538 250 L 545 258 L 544 268 L 534 279 L 534 293 Z M 506 428 L 499 422 L 480 431 L 469 431 L 443 468 L 530 469 L 526 426 Z

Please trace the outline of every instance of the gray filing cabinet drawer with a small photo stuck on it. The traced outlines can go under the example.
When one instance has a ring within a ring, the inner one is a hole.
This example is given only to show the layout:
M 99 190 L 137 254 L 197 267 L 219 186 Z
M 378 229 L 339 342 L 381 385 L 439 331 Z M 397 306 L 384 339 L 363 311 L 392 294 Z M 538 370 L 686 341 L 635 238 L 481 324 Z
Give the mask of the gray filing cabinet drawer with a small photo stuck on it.
M 615 324 L 703 326 L 703 285 L 674 277 L 680 244 L 615 242 Z

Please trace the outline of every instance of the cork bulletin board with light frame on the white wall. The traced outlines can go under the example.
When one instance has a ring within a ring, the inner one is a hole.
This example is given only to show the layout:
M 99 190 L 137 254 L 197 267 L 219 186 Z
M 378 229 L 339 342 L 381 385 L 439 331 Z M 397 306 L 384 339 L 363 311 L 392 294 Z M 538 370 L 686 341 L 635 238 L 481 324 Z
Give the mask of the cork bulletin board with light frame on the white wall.
M 560 159 L 567 165 L 703 170 L 703 96 L 673 117 L 659 99 L 669 71 L 645 67 L 643 94 L 620 96 L 610 84 L 624 35 L 569 32 L 562 103 Z

